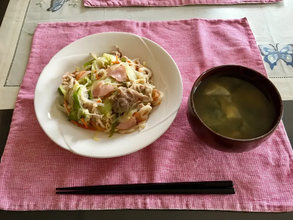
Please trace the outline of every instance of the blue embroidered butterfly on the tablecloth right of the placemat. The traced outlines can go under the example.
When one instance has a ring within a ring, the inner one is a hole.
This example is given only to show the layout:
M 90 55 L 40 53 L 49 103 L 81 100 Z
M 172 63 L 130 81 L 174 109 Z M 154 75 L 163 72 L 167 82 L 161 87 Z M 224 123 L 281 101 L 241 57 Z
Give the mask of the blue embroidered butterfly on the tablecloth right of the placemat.
M 271 45 L 271 44 L 269 44 Z M 286 62 L 287 65 L 291 65 L 293 67 L 293 44 L 286 45 L 281 51 L 278 51 L 278 43 L 276 44 L 276 48 L 271 45 L 275 51 L 259 45 L 259 50 L 262 56 L 265 56 L 263 59 L 269 64 L 271 69 L 277 65 L 277 61 L 282 59 Z

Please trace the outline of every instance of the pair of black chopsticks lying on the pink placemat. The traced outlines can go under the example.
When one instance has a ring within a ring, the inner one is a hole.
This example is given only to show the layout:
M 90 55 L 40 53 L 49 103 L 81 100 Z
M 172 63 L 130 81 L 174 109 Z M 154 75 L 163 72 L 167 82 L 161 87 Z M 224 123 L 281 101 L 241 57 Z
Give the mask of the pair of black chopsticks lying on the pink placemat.
M 170 182 L 122 185 L 93 185 L 56 188 L 56 194 L 235 194 L 232 181 Z

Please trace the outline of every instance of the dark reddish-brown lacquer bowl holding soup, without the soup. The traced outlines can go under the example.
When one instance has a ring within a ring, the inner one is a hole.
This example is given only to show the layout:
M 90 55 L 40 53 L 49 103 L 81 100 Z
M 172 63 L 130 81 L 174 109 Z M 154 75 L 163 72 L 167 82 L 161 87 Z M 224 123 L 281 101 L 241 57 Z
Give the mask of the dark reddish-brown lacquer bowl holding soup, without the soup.
M 265 134 L 253 139 L 234 139 L 218 134 L 214 130 L 210 129 L 206 124 L 204 124 L 194 105 L 194 102 L 196 102 L 196 100 L 194 100 L 194 98 L 196 98 L 194 93 L 197 89 L 197 86 L 204 79 L 219 73 L 228 73 L 232 77 L 235 75 L 236 78 L 240 78 L 249 82 L 257 89 L 259 89 L 262 94 L 270 97 L 270 100 L 273 103 L 272 106 L 275 108 L 275 117 L 272 119 L 272 126 L 268 128 L 268 131 Z M 273 83 L 261 73 L 239 65 L 217 66 L 205 71 L 195 81 L 188 98 L 187 118 L 194 134 L 197 135 L 197 137 L 208 146 L 223 152 L 241 153 L 255 149 L 273 134 L 281 121 L 282 115 L 282 99 Z

